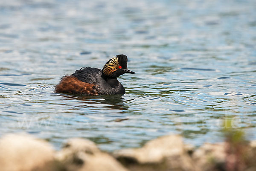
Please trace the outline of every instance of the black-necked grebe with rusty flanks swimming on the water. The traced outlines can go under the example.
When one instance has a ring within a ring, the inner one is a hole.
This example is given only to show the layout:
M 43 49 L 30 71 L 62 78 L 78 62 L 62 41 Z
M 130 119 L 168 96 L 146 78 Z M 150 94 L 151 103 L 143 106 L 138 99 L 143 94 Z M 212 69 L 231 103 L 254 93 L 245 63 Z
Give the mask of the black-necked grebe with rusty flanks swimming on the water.
M 72 93 L 82 95 L 124 94 L 125 88 L 116 77 L 124 73 L 134 74 L 127 69 L 127 56 L 116 55 L 108 60 L 103 69 L 83 67 L 75 73 L 64 75 L 55 93 Z

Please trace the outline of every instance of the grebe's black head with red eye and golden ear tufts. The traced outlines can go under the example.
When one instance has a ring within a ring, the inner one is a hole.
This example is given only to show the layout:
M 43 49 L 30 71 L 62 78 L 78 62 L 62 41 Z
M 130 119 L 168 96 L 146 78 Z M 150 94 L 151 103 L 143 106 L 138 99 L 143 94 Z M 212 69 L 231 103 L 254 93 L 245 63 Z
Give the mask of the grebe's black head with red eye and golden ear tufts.
M 102 74 L 107 77 L 118 77 L 124 73 L 135 74 L 127 69 L 127 56 L 116 55 L 104 65 Z

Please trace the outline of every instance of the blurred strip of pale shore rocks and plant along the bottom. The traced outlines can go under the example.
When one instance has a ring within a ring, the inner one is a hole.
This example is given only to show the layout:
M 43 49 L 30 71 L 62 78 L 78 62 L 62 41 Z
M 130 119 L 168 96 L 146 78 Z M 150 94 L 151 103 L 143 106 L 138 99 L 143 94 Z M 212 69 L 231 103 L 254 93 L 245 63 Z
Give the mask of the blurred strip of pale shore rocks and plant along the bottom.
M 102 152 L 94 142 L 73 138 L 54 151 L 44 140 L 8 134 L 0 139 L 1 171 L 255 171 L 256 140 L 237 139 L 227 130 L 226 142 L 199 148 L 179 135 L 162 136 L 142 148 Z

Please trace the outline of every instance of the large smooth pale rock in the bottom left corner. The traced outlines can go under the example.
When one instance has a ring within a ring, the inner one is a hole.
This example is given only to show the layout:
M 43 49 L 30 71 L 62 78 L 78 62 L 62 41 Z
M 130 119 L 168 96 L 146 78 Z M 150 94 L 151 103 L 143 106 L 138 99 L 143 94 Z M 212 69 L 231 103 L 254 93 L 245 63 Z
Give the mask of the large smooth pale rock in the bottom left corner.
M 26 134 L 7 134 L 0 139 L 1 171 L 40 170 L 53 158 L 53 148 L 44 140 Z

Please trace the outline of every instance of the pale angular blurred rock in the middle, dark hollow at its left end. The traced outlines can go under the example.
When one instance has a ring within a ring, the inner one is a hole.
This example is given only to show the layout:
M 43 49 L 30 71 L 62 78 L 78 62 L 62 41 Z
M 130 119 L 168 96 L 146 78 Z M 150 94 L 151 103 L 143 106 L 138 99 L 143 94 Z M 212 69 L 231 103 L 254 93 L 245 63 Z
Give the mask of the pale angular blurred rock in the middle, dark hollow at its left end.
M 131 170 L 194 171 L 192 159 L 185 150 L 181 136 L 162 136 L 142 148 L 115 151 L 114 157 Z

